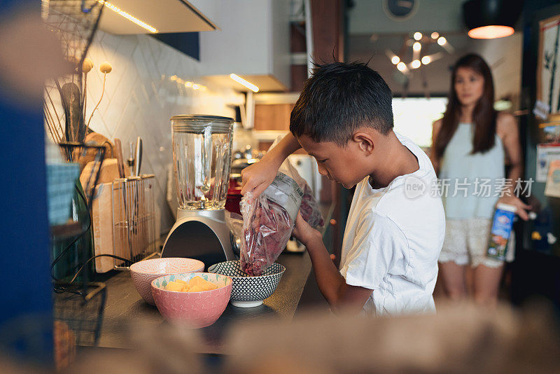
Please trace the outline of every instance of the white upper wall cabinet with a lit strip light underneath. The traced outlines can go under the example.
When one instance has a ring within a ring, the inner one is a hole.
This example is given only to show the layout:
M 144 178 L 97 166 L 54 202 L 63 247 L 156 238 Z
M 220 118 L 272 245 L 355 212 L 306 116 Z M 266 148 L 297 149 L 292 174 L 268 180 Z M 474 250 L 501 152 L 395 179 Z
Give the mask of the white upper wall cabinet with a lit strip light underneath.
M 260 91 L 284 91 L 290 86 L 288 0 L 214 0 L 215 32 L 200 34 L 202 76 L 237 90 L 237 74 Z

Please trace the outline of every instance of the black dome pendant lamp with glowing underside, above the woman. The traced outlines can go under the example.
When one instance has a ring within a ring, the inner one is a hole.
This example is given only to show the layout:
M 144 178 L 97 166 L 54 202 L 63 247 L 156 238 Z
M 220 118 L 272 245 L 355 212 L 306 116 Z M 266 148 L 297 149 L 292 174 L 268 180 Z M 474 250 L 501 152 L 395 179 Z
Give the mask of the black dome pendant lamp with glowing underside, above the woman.
M 521 15 L 523 0 L 468 0 L 463 3 L 463 19 L 473 39 L 510 36 Z

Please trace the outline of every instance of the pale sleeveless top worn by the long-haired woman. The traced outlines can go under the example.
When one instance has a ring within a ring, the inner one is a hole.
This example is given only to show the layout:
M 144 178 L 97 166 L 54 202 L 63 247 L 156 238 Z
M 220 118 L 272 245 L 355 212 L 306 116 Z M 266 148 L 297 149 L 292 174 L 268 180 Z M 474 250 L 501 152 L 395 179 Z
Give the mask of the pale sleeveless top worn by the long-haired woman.
M 447 219 L 491 219 L 504 183 L 502 139 L 484 153 L 472 151 L 472 125 L 459 123 L 440 167 L 440 191 Z

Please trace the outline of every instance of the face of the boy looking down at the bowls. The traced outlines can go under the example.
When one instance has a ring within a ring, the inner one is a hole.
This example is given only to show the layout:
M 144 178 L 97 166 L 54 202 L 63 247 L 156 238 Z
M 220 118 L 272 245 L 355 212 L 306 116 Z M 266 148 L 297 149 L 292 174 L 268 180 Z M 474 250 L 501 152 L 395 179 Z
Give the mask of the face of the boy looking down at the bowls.
M 309 155 L 317 160 L 319 173 L 344 188 L 352 188 L 367 172 L 363 170 L 363 149 L 356 141 L 349 141 L 342 147 L 332 141 L 316 142 L 307 135 L 297 138 Z

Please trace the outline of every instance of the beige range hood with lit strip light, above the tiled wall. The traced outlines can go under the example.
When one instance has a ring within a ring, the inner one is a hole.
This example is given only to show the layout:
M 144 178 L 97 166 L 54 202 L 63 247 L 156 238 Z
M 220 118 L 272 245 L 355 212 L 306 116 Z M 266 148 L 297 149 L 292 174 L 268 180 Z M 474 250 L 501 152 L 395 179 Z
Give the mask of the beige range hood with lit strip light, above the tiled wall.
M 193 1 L 110 0 L 104 3 L 99 28 L 111 34 L 203 32 L 218 29 L 214 22 L 193 5 Z

